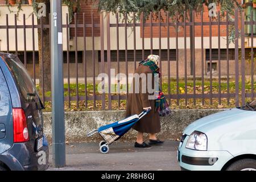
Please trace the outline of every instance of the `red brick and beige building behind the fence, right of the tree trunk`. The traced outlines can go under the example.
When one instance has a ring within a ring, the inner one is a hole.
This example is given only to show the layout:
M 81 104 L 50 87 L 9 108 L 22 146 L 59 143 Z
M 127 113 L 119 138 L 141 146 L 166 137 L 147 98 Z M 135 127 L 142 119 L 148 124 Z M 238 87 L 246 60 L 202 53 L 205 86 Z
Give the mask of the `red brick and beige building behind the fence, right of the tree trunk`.
M 5 0 L 0 0 L 0 5 L 4 5 Z M 249 9 L 246 9 L 246 11 L 249 12 Z M 93 15 L 92 15 L 93 13 Z M 246 12 L 247 13 L 247 12 Z M 255 13 L 255 11 L 254 11 Z M 93 5 L 90 5 L 88 3 L 82 3 L 81 5 L 81 12 L 77 15 L 77 24 L 82 24 L 83 18 L 85 16 L 85 23 L 91 24 L 92 19 L 94 24 L 100 24 L 100 14 L 98 13 L 98 10 Z M 161 14 L 162 18 L 164 19 L 163 23 L 166 22 L 166 15 L 164 13 Z M 200 14 L 197 14 L 195 16 L 195 22 L 201 22 L 201 16 Z M 217 19 L 213 19 L 213 22 L 216 22 Z M 171 21 L 171 20 L 170 20 Z M 225 17 L 221 21 L 225 21 Z M 110 14 L 110 23 L 115 23 L 115 15 Z M 147 20 L 146 23 L 149 23 L 150 20 Z M 204 13 L 203 13 L 203 22 L 209 22 L 209 14 L 208 14 L 208 7 L 204 7 Z M 65 23 L 65 21 L 63 21 Z M 71 24 L 74 24 L 75 20 L 72 20 Z M 122 20 L 119 20 L 119 23 L 123 23 Z M 139 22 L 137 22 L 139 23 Z M 158 23 L 158 20 L 154 19 L 152 23 Z M 106 16 L 104 13 L 104 59 L 107 60 L 107 44 L 106 44 Z M 241 23 L 238 22 L 239 28 L 241 28 Z M 187 39 L 184 39 L 184 27 L 179 26 L 178 27 L 178 39 L 177 39 L 177 47 L 176 47 L 176 30 L 175 27 L 170 26 L 170 67 L 171 67 L 171 76 L 176 76 L 176 60 L 177 56 L 179 56 L 179 75 L 184 76 L 184 53 L 187 53 L 187 71 L 188 75 L 190 74 L 191 69 L 191 63 L 190 63 L 190 39 L 189 39 L 189 26 L 187 26 L 187 32 L 186 36 Z M 246 27 L 246 31 L 250 30 L 250 28 Z M 213 25 L 212 26 L 212 71 L 213 75 L 218 74 L 218 26 Z M 226 75 L 226 26 L 221 25 L 220 26 L 220 58 L 221 58 L 221 75 Z M 69 53 L 70 55 L 70 69 L 75 70 L 75 28 L 69 28 L 70 34 L 67 40 L 69 41 L 69 50 L 71 51 Z M 135 31 L 135 38 L 133 37 Z M 142 60 L 142 35 L 144 32 L 144 57 L 146 57 L 148 54 L 150 54 L 150 35 L 151 35 L 151 29 L 150 27 L 146 26 L 144 29 L 142 27 L 136 27 L 135 30 L 131 30 L 131 28 L 127 28 L 127 43 L 125 43 L 125 30 L 124 27 L 119 28 L 119 61 L 120 61 L 120 72 L 125 73 L 125 67 L 126 63 L 125 60 L 128 61 L 128 71 L 133 72 L 134 71 L 134 53 L 136 56 L 137 61 Z M 95 64 L 95 74 L 96 76 L 98 73 L 101 72 L 101 38 L 100 38 L 100 27 L 96 26 L 93 29 L 93 39 L 92 39 L 92 28 L 86 27 L 86 65 L 87 65 L 87 76 L 93 76 L 93 63 Z M 164 76 L 167 76 L 167 27 L 162 26 L 161 27 L 161 60 L 162 60 L 162 72 Z M 204 74 L 209 75 L 209 60 L 210 60 L 210 42 L 209 42 L 209 26 L 203 26 L 203 49 L 201 48 L 201 26 L 195 26 L 195 62 L 196 62 L 196 75 L 201 75 L 201 62 L 203 58 L 204 62 Z M 111 56 L 111 66 L 112 68 L 117 68 L 117 31 L 115 27 L 110 28 L 110 56 Z M 250 35 L 250 34 L 248 34 Z M 92 47 L 92 41 L 94 40 L 94 47 Z M 136 51 L 134 52 L 134 40 L 136 41 Z M 83 35 L 83 28 L 79 27 L 77 28 L 77 55 L 78 55 L 78 75 L 79 77 L 84 76 L 84 67 L 83 67 L 83 52 L 84 52 L 84 35 Z M 65 41 L 64 41 L 65 42 Z M 187 49 L 185 48 L 184 43 L 187 44 Z M 255 41 L 256 42 L 256 41 Z M 127 44 L 127 46 L 126 46 Z M 152 27 L 152 52 L 155 54 L 159 54 L 159 27 L 154 26 Z M 245 40 L 245 46 L 246 46 L 246 59 L 250 58 L 250 38 L 246 38 Z M 125 47 L 127 47 L 127 56 L 125 55 Z M 93 52 L 94 49 L 94 52 Z M 176 51 L 177 49 L 177 51 Z M 67 77 L 67 45 L 64 45 L 64 76 Z M 203 54 L 202 54 L 203 52 Z M 177 55 L 178 53 L 178 55 Z M 31 56 L 31 52 L 27 52 L 27 57 L 29 58 Z M 20 52 L 20 55 L 22 55 L 22 52 Z M 202 57 L 203 55 L 203 57 Z M 22 57 L 22 56 L 20 56 Z M 94 57 L 94 59 L 93 59 Z M 234 74 L 234 44 L 229 44 L 229 63 L 230 63 L 230 75 Z M 246 64 L 246 69 L 250 70 L 249 64 Z M 107 72 L 107 67 L 105 67 L 105 72 Z M 76 72 L 71 72 L 71 77 L 75 77 Z

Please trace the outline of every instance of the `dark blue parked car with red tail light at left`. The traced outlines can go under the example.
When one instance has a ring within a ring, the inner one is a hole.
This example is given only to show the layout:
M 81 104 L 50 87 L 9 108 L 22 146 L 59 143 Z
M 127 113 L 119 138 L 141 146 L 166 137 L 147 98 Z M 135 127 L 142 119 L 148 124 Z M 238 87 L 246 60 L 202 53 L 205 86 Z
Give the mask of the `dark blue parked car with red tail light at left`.
M 0 171 L 46 170 L 44 106 L 18 57 L 0 53 Z

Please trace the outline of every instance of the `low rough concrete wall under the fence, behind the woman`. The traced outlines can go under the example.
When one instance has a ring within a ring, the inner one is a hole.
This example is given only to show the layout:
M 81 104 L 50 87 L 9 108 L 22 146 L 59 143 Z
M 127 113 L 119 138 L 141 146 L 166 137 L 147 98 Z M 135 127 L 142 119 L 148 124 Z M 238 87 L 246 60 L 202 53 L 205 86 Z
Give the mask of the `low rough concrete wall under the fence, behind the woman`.
M 168 117 L 161 118 L 162 131 L 158 137 L 163 140 L 175 140 L 180 138 L 185 127 L 196 119 L 209 114 L 223 111 L 220 109 L 189 109 L 172 110 Z M 86 137 L 86 134 L 98 127 L 107 125 L 124 118 L 125 111 L 73 111 L 65 113 L 65 136 L 69 142 L 99 142 L 102 138 L 99 134 Z M 51 113 L 44 113 L 44 133 L 51 141 Z M 130 130 L 121 140 L 134 140 L 136 131 Z M 145 138 L 146 139 L 146 138 Z

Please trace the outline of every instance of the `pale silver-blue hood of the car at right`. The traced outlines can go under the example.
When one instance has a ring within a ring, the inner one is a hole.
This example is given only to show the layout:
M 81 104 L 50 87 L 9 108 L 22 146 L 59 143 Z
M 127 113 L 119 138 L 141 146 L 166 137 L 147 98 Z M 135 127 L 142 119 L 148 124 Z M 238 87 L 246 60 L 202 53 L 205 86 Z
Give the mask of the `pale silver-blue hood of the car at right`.
M 213 131 L 213 133 L 220 134 L 220 128 L 223 129 L 224 132 L 227 132 L 234 126 L 240 127 L 245 123 L 255 123 L 255 117 L 256 111 L 248 111 L 237 108 L 229 109 L 221 111 L 220 113 L 211 114 L 207 117 L 198 119 L 197 121 L 191 123 L 191 125 L 189 125 L 184 130 L 184 133 L 187 135 L 191 135 L 191 133 L 196 130 L 201 131 L 203 133 L 209 133 L 210 131 Z

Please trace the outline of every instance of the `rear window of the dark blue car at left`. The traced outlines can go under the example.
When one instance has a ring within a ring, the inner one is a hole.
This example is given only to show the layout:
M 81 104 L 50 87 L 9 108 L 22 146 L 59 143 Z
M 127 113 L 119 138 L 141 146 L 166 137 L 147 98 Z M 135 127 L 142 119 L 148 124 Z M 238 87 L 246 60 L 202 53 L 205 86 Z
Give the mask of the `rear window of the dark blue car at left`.
M 24 65 L 18 58 L 6 59 L 6 63 L 13 73 L 14 80 L 23 100 L 26 102 L 31 102 L 31 100 L 34 100 L 34 97 L 38 95 L 38 93 Z

